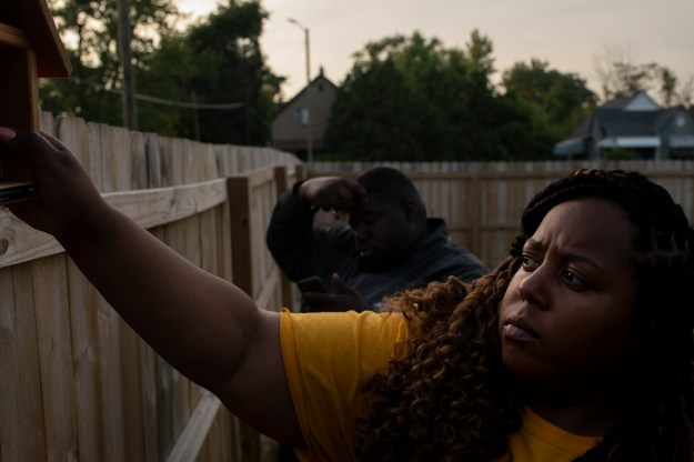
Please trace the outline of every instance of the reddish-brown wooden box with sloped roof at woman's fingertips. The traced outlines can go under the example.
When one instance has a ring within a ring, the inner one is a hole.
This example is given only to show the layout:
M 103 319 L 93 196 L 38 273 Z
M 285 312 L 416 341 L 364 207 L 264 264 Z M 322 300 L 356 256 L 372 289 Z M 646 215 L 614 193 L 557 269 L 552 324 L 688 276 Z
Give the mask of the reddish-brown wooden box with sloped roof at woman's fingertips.
M 40 130 L 39 78 L 70 76 L 70 60 L 46 0 L 0 3 L 0 125 Z M 0 203 L 31 193 L 26 160 L 0 152 Z

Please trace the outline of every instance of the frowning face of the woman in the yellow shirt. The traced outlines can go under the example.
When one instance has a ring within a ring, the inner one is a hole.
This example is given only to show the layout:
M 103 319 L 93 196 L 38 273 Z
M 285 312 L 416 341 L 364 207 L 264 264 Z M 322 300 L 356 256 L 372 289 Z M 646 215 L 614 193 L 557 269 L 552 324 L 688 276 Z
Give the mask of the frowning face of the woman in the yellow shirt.
M 615 204 L 554 207 L 523 248 L 502 301 L 507 370 L 537 391 L 603 393 L 634 343 L 633 227 Z

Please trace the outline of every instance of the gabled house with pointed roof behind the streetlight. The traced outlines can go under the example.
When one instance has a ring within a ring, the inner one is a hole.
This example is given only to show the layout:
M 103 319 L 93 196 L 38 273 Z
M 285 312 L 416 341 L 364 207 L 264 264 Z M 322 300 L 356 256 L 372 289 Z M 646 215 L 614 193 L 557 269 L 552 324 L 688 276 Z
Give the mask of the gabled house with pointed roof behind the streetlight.
M 321 151 L 336 91 L 338 87 L 323 74 L 321 68 L 319 76 L 289 100 L 272 119 L 272 145 L 306 160 L 310 139 L 313 152 Z

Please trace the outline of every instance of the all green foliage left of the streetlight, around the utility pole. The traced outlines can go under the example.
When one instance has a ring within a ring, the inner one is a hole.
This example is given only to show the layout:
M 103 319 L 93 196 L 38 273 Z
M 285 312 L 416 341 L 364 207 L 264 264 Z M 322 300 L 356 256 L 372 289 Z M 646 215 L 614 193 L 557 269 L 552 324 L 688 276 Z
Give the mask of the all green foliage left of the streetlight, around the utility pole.
M 47 80 L 43 110 L 122 124 L 117 0 L 53 0 L 71 79 Z M 259 1 L 229 2 L 178 32 L 173 0 L 131 0 L 138 129 L 220 143 L 265 144 L 282 78 L 264 64 Z M 213 109 L 192 109 L 192 103 Z

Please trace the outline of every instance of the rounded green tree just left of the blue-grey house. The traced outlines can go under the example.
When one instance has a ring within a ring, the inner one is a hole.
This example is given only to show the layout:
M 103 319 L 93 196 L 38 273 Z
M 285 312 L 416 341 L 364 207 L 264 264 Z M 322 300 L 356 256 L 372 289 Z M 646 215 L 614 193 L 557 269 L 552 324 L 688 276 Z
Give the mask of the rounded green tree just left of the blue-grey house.
M 565 138 L 595 108 L 597 96 L 584 79 L 574 73 L 550 69 L 547 62 L 531 59 L 517 62 L 502 77 L 502 87 L 510 98 L 531 104 L 537 117 L 557 138 Z

